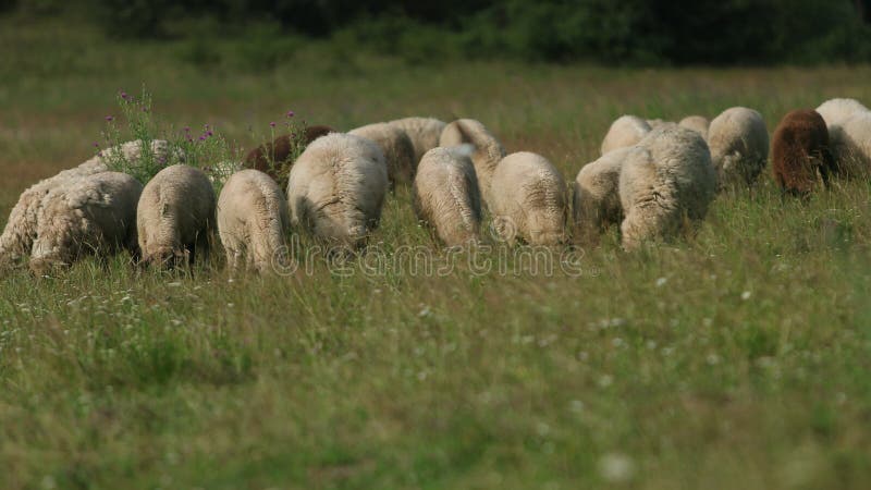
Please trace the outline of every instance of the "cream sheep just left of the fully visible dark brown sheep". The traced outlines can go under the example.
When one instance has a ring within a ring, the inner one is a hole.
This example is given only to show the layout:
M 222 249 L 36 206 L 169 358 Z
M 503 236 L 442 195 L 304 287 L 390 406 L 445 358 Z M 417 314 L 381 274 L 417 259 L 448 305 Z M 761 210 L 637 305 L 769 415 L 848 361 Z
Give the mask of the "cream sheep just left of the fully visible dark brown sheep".
M 714 118 L 708 145 L 720 188 L 751 185 L 768 162 L 769 133 L 752 109 L 733 107 Z

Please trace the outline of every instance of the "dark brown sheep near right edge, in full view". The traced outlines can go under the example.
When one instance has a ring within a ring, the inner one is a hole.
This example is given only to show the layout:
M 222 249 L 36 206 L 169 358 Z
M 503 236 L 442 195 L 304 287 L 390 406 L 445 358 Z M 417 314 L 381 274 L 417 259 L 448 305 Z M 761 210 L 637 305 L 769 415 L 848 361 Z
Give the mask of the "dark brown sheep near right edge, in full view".
M 827 184 L 835 162 L 829 149 L 825 120 L 812 109 L 798 109 L 786 114 L 777 128 L 771 150 L 774 180 L 794 195 L 807 195 L 818 184 L 818 172 Z

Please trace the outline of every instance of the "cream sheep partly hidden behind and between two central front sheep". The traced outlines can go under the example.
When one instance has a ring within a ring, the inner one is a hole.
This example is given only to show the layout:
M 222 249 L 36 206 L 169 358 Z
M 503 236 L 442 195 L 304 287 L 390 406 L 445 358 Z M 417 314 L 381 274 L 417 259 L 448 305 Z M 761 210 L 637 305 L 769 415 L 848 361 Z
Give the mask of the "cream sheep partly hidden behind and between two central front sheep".
M 505 148 L 480 121 L 474 119 L 458 119 L 447 124 L 439 138 L 439 146 L 443 147 L 456 147 L 464 144 L 470 144 L 475 148 L 471 154 L 471 163 L 475 166 L 481 198 L 490 209 L 491 181 L 496 166 L 505 158 Z

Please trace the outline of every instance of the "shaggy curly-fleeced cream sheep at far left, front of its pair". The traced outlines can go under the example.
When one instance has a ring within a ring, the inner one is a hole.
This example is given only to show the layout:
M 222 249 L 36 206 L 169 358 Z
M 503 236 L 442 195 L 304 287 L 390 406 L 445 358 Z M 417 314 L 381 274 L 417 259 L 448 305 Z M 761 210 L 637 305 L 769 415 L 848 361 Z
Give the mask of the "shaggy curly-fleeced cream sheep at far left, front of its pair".
M 143 185 L 102 172 L 56 186 L 39 208 L 30 270 L 44 274 L 91 253 L 136 252 L 136 204 Z

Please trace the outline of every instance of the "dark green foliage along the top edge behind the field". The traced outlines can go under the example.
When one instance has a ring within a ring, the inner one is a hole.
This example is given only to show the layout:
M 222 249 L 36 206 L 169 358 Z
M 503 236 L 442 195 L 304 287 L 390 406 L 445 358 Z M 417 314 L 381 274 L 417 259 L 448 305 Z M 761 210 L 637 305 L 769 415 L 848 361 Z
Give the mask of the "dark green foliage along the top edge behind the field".
M 213 35 L 242 39 L 260 34 L 250 33 L 250 25 L 280 26 L 269 42 L 246 47 L 255 48 L 254 68 L 281 61 L 286 49 L 269 45 L 281 45 L 289 33 L 351 40 L 354 49 L 412 62 L 457 57 L 674 65 L 871 60 L 868 0 L 91 2 L 102 28 L 116 37 L 191 37 L 195 29 L 185 28 L 186 23 L 203 19 L 214 21 Z M 7 3 L 0 0 L 0 11 Z M 58 4 L 21 3 L 22 10 L 44 14 L 51 9 L 35 5 Z M 185 56 L 200 65 L 218 63 L 197 42 Z

